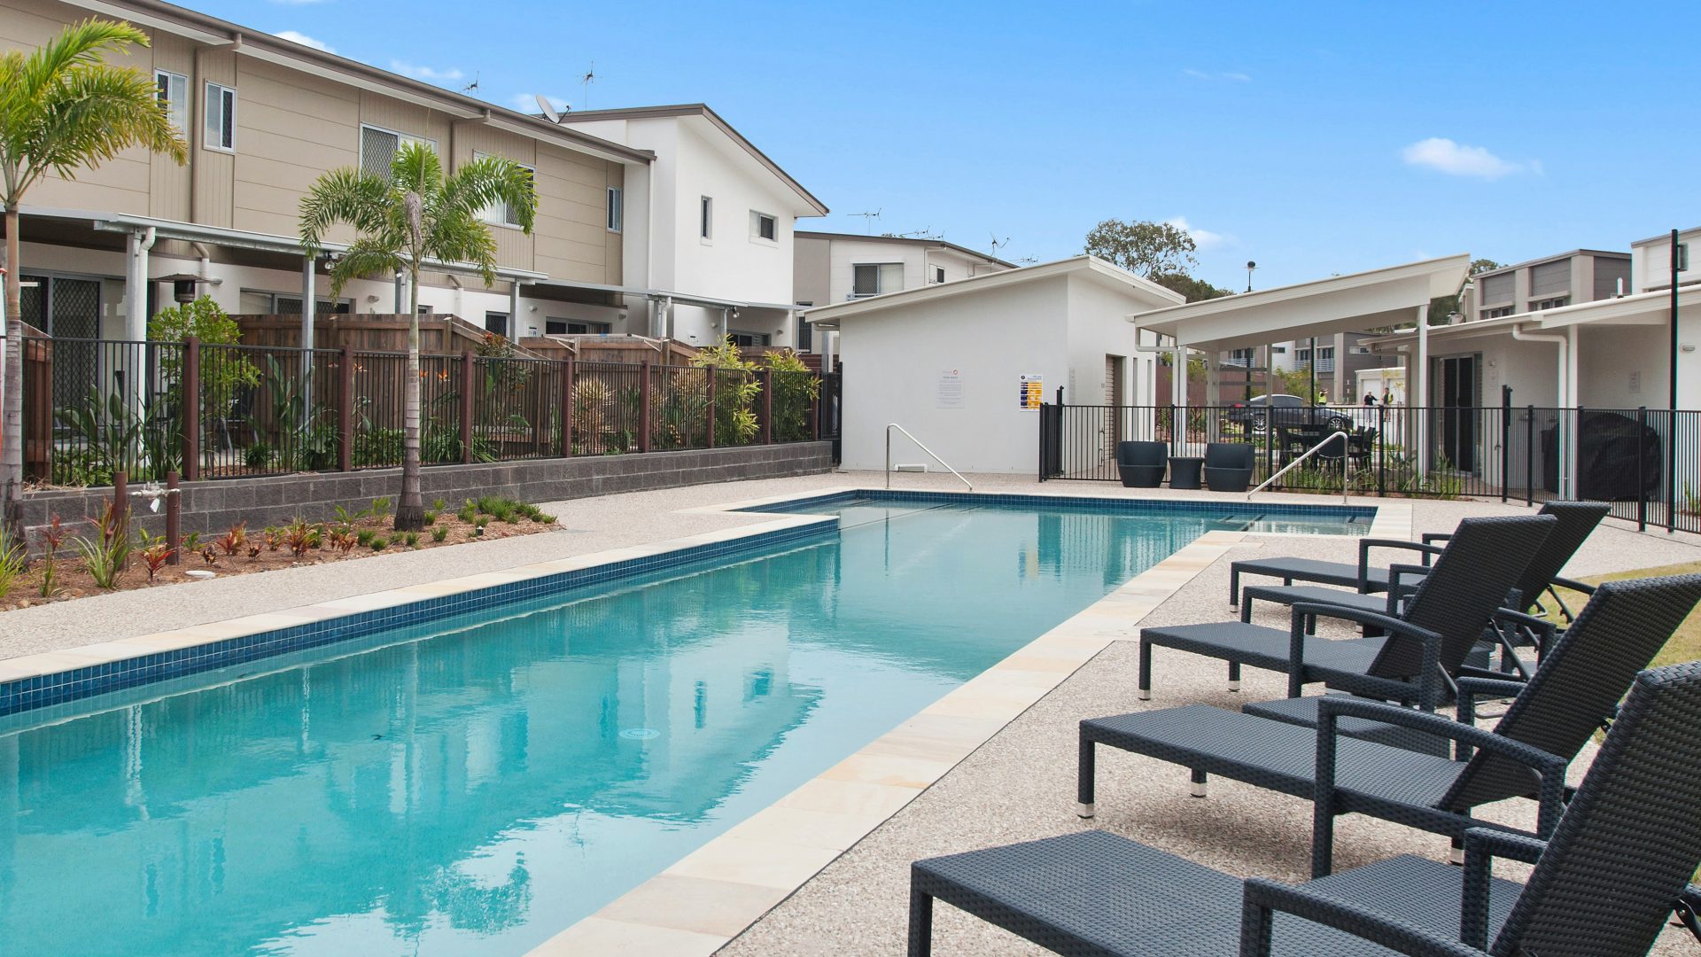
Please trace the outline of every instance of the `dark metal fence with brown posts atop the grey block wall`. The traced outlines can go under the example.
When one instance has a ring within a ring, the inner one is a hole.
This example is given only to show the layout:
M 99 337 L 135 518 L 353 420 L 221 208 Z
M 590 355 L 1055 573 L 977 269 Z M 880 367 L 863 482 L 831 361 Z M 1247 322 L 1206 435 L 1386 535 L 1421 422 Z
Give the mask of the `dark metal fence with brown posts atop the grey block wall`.
M 401 465 L 405 352 L 24 341 L 24 473 L 53 485 Z M 420 356 L 425 465 L 839 438 L 840 376 Z

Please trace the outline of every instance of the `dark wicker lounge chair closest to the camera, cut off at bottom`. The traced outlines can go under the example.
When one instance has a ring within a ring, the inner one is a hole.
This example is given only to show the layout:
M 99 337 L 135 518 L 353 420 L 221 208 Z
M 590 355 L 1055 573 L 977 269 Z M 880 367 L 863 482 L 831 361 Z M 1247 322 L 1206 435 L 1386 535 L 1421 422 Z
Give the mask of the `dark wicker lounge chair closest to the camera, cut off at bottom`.
M 1548 841 L 1473 828 L 1465 868 L 1402 855 L 1289 885 L 1084 831 L 919 860 L 910 957 L 946 901 L 1094 957 L 1636 957 L 1701 865 L 1701 662 L 1641 673 Z M 1521 884 L 1493 858 L 1534 863 Z

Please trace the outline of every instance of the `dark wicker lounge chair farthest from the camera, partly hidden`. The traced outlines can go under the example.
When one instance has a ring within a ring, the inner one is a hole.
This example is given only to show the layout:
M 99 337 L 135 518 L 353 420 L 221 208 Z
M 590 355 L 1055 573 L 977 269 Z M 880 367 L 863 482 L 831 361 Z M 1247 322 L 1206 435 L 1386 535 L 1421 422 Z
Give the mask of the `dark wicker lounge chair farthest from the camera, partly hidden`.
M 1589 535 L 1601 524 L 1601 519 L 1613 511 L 1613 506 L 1606 502 L 1545 502 L 1541 511 L 1536 514 L 1551 514 L 1560 519 L 1553 528 L 1553 535 L 1543 543 L 1536 555 L 1531 555 L 1529 565 L 1524 569 L 1524 576 L 1519 579 L 1519 593 L 1522 594 L 1524 606 L 1519 611 L 1529 611 L 1531 606 L 1548 587 L 1558 581 L 1562 587 L 1570 587 L 1575 582 L 1567 582 L 1558 577 L 1560 569 L 1565 562 L 1572 560 L 1572 555 L 1582 548 Z M 1378 569 L 1369 564 L 1369 553 L 1373 548 L 1405 548 L 1410 552 L 1422 553 L 1422 562 L 1427 565 L 1432 555 L 1439 553 L 1439 542 L 1448 542 L 1451 535 L 1425 535 L 1422 542 L 1402 542 L 1398 538 L 1361 538 L 1359 540 L 1359 562 L 1354 565 L 1351 562 L 1322 562 L 1317 559 L 1247 559 L 1243 562 L 1233 562 L 1228 565 L 1228 606 L 1235 608 L 1240 603 L 1240 576 L 1267 576 L 1277 577 L 1284 586 L 1291 586 L 1296 581 L 1318 582 L 1318 584 L 1335 584 L 1342 587 L 1356 587 L 1361 593 L 1388 591 L 1388 569 Z M 1585 591 L 1587 586 L 1579 587 Z

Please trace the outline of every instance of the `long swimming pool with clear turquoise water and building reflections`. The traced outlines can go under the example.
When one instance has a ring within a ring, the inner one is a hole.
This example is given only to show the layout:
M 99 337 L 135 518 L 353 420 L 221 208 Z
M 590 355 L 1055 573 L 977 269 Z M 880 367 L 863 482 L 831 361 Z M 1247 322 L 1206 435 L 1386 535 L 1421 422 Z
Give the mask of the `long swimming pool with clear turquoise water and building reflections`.
M 1369 514 L 1005 499 L 803 501 L 840 528 L 14 713 L 5 942 L 524 952 L 1203 531 Z

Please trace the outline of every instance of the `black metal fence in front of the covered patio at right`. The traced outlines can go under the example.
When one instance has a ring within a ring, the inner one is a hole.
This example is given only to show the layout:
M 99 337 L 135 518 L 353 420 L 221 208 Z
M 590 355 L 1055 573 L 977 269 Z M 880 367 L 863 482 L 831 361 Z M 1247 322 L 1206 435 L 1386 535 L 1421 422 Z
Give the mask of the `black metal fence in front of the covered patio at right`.
M 1124 441 L 1165 443 L 1172 456 L 1201 456 L 1211 443 L 1252 444 L 1254 484 L 1281 473 L 1271 489 L 1288 492 L 1339 494 L 1345 482 L 1356 496 L 1590 499 L 1611 502 L 1616 518 L 1638 528 L 1701 531 L 1696 410 L 1046 404 L 1039 480 L 1116 482 Z

